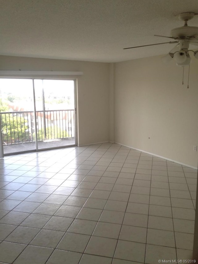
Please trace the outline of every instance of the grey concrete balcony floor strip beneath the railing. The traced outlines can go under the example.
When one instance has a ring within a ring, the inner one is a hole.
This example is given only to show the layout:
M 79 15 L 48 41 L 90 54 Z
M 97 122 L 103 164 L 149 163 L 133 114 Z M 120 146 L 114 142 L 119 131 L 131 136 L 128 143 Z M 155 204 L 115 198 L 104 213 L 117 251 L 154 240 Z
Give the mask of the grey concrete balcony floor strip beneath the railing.
M 58 148 L 63 146 L 75 145 L 75 137 L 70 137 L 60 140 L 46 140 L 38 141 L 38 149 Z M 35 150 L 35 142 L 19 143 L 13 145 L 3 146 L 4 154 L 11 154 L 16 152 L 25 152 Z

